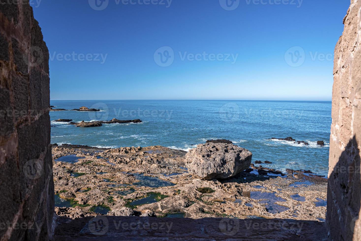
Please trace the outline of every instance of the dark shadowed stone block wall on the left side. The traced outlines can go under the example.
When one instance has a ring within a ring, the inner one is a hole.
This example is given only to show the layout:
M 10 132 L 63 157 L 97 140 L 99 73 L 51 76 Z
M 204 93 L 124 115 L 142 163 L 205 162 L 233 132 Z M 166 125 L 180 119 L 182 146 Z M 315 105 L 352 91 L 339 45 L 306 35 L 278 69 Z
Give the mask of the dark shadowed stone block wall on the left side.
M 49 53 L 29 1 L 0 3 L 0 240 L 48 240 Z

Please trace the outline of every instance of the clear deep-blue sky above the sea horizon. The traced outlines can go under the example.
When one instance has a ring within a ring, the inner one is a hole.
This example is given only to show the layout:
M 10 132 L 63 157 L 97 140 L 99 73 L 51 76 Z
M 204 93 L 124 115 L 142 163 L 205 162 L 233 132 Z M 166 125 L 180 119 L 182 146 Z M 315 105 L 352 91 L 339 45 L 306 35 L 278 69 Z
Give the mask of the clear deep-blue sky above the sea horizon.
M 97 1 L 30 1 L 53 57 L 52 100 L 331 100 L 350 1 Z M 174 51 L 166 67 L 157 64 L 164 46 Z

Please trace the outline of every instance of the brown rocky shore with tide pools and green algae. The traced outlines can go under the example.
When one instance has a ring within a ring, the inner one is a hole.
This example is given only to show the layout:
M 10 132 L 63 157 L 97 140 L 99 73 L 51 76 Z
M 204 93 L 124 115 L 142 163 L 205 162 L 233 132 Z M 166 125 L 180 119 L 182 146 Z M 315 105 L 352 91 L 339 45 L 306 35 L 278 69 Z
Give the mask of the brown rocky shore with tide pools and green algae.
M 327 179 L 251 164 L 227 179 L 188 172 L 187 152 L 163 146 L 94 148 L 53 144 L 56 213 L 323 221 Z M 263 164 L 263 163 L 262 163 Z

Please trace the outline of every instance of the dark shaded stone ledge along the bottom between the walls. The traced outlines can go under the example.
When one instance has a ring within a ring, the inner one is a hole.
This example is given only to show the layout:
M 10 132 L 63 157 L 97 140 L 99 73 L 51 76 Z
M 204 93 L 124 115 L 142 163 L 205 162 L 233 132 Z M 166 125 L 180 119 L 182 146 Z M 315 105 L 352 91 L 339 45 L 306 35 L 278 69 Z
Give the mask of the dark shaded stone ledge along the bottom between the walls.
M 57 217 L 54 241 L 327 240 L 325 223 L 292 219 Z

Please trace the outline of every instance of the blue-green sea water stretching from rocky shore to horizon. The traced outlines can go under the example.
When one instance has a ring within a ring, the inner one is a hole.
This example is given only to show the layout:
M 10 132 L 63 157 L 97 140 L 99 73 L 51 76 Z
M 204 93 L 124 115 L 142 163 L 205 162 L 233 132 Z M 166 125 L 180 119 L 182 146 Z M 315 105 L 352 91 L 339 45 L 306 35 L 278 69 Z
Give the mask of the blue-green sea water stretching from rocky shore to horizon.
M 100 112 L 51 111 L 51 141 L 116 148 L 162 145 L 189 150 L 208 139 L 229 139 L 253 153 L 252 160 L 268 160 L 262 166 L 284 171 L 307 169 L 327 175 L 331 101 L 190 101 L 107 100 L 51 101 L 59 109 L 81 106 Z M 141 119 L 139 124 L 103 124 L 82 128 L 75 122 Z M 291 136 L 310 145 L 268 140 Z M 325 146 L 317 146 L 318 140 Z

